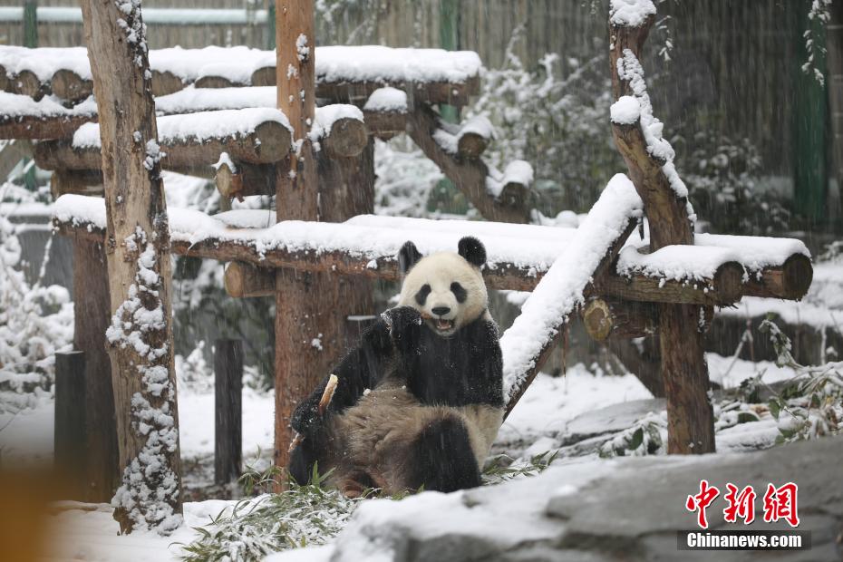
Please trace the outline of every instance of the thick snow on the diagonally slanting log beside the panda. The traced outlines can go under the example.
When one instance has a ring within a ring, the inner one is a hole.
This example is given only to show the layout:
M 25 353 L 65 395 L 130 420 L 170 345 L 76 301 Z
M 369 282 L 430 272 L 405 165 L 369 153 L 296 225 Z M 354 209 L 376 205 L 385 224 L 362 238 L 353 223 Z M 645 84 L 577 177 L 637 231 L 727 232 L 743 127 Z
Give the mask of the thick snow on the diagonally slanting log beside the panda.
M 574 237 L 521 307 L 521 314 L 500 338 L 506 401 L 557 334 L 560 322 L 582 305 L 583 291 L 606 251 L 643 209 L 635 186 L 624 174 L 609 180 Z

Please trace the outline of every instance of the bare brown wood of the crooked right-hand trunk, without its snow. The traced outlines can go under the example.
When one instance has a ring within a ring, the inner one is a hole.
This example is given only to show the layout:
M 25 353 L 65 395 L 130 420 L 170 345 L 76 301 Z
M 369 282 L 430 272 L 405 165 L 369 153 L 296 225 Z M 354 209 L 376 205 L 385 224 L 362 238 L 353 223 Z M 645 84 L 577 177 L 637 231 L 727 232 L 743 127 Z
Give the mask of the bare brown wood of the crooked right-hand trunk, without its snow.
M 610 24 L 609 44 L 612 89 L 615 100 L 634 95 L 632 85 L 618 72 L 618 63 L 630 50 L 641 60 L 641 51 L 654 16 L 638 26 Z M 693 244 L 693 229 L 686 211 L 687 200 L 676 195 L 662 169 L 646 150 L 640 121 L 612 123 L 615 145 L 624 157 L 629 178 L 644 200 L 650 221 L 650 249 L 671 244 Z M 708 365 L 705 363 L 702 330 L 699 329 L 701 306 L 660 305 L 659 342 L 662 377 L 667 398 L 669 453 L 714 451 L 712 404 L 708 399 Z

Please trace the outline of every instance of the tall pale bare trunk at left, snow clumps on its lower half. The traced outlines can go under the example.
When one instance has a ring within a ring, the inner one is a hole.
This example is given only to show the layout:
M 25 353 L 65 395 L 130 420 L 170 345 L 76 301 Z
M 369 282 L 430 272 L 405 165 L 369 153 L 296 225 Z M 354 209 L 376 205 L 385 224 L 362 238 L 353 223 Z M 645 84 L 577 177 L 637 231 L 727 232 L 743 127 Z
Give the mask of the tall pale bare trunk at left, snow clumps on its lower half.
M 123 470 L 112 503 L 122 532 L 169 533 L 181 522 L 170 228 L 145 26 L 140 5 L 126 6 L 82 2 L 99 106 L 112 313 L 106 337 Z

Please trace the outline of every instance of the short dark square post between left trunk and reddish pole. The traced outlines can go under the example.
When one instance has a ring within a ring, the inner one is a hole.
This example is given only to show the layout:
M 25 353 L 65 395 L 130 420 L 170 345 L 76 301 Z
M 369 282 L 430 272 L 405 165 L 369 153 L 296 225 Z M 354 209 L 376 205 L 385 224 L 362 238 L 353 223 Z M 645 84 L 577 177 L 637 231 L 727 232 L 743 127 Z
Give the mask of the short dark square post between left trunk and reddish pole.
M 243 456 L 243 342 L 214 343 L 214 482 L 240 476 Z

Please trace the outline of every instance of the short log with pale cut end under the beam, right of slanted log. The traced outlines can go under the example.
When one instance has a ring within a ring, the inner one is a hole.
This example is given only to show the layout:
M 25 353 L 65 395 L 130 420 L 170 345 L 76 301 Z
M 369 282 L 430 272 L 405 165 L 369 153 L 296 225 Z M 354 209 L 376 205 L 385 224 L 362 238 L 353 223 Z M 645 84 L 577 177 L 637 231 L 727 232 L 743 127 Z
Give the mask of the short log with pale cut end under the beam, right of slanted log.
M 630 339 L 653 335 L 658 329 L 658 309 L 648 303 L 594 298 L 582 310 L 586 333 L 597 342 L 609 337 Z

